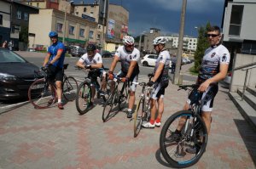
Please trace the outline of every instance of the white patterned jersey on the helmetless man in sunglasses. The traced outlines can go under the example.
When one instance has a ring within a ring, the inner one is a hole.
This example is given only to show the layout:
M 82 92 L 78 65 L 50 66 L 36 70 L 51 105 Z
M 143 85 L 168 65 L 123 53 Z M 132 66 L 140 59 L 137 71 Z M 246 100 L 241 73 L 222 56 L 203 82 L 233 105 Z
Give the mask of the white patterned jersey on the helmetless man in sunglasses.
M 220 64 L 230 63 L 230 53 L 223 45 L 207 48 L 202 59 L 199 80 L 205 81 L 219 72 Z

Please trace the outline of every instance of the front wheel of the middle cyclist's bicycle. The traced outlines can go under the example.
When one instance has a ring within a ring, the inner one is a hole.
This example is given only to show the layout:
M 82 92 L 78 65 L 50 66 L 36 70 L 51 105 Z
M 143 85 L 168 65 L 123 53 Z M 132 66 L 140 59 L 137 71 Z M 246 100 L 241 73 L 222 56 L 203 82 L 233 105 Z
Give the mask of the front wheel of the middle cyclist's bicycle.
M 110 93 L 109 95 L 108 95 L 108 99 L 107 99 L 107 101 L 105 102 L 105 104 L 104 104 L 104 108 L 103 108 L 103 111 L 102 111 L 102 121 L 103 122 L 106 122 L 106 121 L 108 121 L 108 119 L 109 119 L 109 116 L 110 116 L 110 113 L 111 113 L 111 111 L 113 110 L 113 105 L 114 104 L 117 104 L 116 102 L 118 101 L 117 99 L 116 99 L 116 97 L 117 97 L 117 91 L 118 90 L 114 90 L 113 91 L 113 93 Z

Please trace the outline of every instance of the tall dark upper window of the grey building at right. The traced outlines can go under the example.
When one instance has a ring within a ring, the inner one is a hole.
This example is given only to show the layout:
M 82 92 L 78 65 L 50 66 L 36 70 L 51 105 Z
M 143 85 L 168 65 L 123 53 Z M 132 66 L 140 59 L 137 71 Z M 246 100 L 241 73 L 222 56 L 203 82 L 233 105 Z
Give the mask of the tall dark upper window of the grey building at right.
M 233 5 L 230 16 L 229 35 L 240 36 L 243 5 Z

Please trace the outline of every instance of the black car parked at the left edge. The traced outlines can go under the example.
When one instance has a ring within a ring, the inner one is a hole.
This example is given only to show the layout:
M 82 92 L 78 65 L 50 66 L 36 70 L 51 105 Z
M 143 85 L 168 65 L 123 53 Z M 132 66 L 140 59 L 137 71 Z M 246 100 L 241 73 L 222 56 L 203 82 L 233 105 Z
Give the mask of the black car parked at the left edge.
M 0 48 L 0 100 L 27 98 L 27 91 L 36 80 L 38 66 L 23 59 L 20 55 Z

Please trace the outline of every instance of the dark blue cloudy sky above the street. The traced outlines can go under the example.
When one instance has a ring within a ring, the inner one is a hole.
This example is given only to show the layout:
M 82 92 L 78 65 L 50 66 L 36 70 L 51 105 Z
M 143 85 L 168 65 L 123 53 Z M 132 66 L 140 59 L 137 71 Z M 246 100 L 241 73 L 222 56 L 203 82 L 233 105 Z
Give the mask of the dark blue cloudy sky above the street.
M 89 0 L 85 0 L 85 3 Z M 162 35 L 178 34 L 183 0 L 109 0 L 129 11 L 129 34 L 137 37 L 150 28 L 158 28 Z M 221 26 L 224 0 L 187 0 L 184 34 L 197 37 L 195 27 Z

